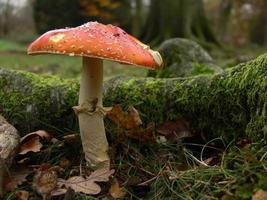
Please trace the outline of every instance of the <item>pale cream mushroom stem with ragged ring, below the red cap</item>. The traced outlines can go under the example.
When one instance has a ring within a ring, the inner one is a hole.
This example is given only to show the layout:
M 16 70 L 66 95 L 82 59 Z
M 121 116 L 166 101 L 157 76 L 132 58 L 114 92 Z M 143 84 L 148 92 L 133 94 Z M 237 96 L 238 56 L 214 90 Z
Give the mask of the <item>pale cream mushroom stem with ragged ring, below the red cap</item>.
M 91 167 L 109 167 L 108 142 L 106 139 L 102 107 L 103 61 L 83 57 L 80 84 L 79 117 L 80 134 L 85 159 Z

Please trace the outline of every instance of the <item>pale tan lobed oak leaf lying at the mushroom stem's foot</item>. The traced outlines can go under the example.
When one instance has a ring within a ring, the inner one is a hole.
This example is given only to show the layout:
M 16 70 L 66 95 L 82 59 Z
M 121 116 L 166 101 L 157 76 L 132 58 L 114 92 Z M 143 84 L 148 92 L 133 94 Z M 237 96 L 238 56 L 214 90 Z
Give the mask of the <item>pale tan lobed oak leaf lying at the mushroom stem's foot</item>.
M 114 173 L 114 170 L 107 168 L 99 169 L 90 174 L 90 176 L 84 178 L 82 176 L 73 176 L 68 180 L 60 179 L 60 182 L 65 185 L 66 188 L 70 187 L 75 192 L 82 192 L 85 194 L 98 194 L 101 192 L 101 187 L 95 182 L 107 182 L 109 177 Z

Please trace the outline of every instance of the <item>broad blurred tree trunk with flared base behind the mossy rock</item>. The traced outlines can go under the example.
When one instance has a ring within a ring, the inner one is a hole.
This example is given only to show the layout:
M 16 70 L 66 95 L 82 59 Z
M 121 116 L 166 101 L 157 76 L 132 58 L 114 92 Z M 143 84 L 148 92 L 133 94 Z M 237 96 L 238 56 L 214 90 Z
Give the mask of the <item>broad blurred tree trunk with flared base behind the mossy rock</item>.
M 151 0 L 142 38 L 158 44 L 173 37 L 186 37 L 201 44 L 216 43 L 202 0 Z

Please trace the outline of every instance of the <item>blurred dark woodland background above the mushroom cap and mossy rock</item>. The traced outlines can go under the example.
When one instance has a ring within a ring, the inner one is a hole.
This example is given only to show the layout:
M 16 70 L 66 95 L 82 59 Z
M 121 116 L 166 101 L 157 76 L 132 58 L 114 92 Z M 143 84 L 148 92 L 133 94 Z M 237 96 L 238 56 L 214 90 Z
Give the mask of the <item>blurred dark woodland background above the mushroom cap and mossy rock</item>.
M 266 10 L 266 0 L 0 0 L 0 65 L 39 34 L 87 21 L 120 26 L 153 48 L 182 37 L 215 59 L 255 54 L 266 50 Z M 32 65 L 23 59 L 20 65 Z

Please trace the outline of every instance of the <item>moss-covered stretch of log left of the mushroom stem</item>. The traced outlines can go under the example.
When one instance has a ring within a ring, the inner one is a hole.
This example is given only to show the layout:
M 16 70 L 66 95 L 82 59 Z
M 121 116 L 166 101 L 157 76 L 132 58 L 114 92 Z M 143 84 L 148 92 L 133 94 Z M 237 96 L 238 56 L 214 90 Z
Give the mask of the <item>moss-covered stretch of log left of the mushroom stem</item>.
M 55 124 L 59 125 L 57 128 L 73 127 L 71 107 L 77 102 L 77 82 L 28 72 L 0 71 L 0 106 L 22 134 L 34 129 L 53 129 Z

